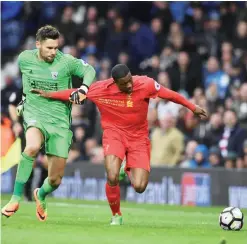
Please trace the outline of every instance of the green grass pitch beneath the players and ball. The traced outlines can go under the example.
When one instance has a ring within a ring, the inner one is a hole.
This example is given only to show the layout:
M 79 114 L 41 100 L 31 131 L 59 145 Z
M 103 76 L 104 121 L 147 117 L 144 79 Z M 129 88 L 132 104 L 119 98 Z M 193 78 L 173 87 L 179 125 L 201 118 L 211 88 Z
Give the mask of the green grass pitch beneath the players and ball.
M 2 196 L 2 205 L 9 196 Z M 2 244 L 246 244 L 241 231 L 223 231 L 221 208 L 122 203 L 123 226 L 110 226 L 106 202 L 48 199 L 48 219 L 39 222 L 34 203 L 21 203 L 2 217 Z M 245 216 L 247 211 L 244 211 Z M 226 242 L 222 242 L 226 240 Z

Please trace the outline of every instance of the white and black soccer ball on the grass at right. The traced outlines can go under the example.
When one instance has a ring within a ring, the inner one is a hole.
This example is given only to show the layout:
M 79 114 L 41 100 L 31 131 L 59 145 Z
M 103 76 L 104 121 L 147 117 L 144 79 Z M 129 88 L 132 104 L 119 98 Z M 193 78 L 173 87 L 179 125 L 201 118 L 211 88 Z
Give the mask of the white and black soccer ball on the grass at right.
M 220 213 L 219 224 L 223 230 L 241 230 L 244 225 L 244 214 L 239 208 L 225 208 Z

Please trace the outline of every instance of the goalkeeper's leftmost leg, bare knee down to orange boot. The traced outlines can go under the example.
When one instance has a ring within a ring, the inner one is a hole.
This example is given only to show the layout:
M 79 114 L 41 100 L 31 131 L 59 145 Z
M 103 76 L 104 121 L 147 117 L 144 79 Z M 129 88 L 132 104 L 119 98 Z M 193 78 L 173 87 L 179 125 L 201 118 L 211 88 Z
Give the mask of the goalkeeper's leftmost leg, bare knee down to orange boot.
M 36 127 L 30 127 L 27 129 L 26 146 L 21 155 L 21 161 L 17 169 L 14 192 L 10 202 L 2 209 L 3 215 L 10 217 L 18 210 L 24 186 L 32 173 L 34 159 L 43 142 L 44 136 L 40 129 Z

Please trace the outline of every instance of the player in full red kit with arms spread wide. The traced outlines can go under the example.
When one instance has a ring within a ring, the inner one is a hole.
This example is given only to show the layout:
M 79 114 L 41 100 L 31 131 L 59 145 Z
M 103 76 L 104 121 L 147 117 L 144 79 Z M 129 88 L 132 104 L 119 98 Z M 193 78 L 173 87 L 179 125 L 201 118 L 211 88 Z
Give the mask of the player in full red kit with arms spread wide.
M 206 112 L 180 94 L 166 89 L 147 76 L 132 76 L 126 65 L 112 69 L 112 78 L 92 84 L 83 90 L 58 92 L 33 90 L 41 96 L 81 104 L 86 98 L 93 101 L 100 113 L 103 128 L 103 147 L 107 172 L 106 196 L 112 210 L 112 225 L 123 223 L 120 211 L 119 171 L 126 157 L 125 171 L 135 191 L 142 193 L 150 173 L 150 141 L 147 112 L 150 98 L 160 97 L 190 109 L 200 118 Z

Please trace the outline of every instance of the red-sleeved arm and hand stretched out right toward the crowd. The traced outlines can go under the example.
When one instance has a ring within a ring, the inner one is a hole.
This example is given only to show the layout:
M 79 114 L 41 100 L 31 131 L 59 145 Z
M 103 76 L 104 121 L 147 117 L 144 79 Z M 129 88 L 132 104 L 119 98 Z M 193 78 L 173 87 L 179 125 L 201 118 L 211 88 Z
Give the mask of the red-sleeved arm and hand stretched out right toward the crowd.
M 207 118 L 207 112 L 203 108 L 191 103 L 185 97 L 175 91 L 161 86 L 158 92 L 158 97 L 181 104 L 190 109 L 196 116 L 200 118 Z

